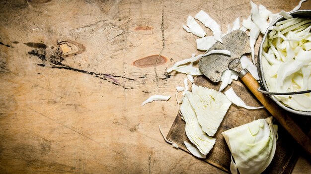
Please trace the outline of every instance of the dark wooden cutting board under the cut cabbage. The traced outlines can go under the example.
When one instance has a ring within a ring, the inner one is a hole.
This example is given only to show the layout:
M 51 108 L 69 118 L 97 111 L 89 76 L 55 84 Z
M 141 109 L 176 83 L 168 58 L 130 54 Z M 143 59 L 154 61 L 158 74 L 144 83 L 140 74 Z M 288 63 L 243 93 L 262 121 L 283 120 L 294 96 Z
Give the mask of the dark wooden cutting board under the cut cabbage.
M 199 86 L 216 90 L 218 90 L 220 86 L 220 84 L 215 84 L 204 76 L 196 78 L 194 83 Z M 260 106 L 259 101 L 252 96 L 251 92 L 248 91 L 248 89 L 240 81 L 233 82 L 231 86 L 227 87 L 227 89 L 230 87 L 233 87 L 235 93 L 246 103 L 246 105 L 255 107 Z M 225 91 L 227 89 L 225 89 Z M 270 114 L 266 109 L 246 110 L 232 104 L 220 124 L 218 131 L 214 135 L 216 143 L 204 161 L 230 173 L 231 153 L 221 133 L 233 127 L 251 122 L 254 119 L 266 118 L 268 116 L 270 116 Z M 278 124 L 276 120 L 273 122 L 274 124 Z M 295 152 L 298 145 L 280 125 L 278 135 L 279 139 L 277 140 L 275 156 L 265 173 L 290 174 L 298 158 L 297 152 Z M 177 143 L 180 149 L 190 153 L 183 143 L 184 141 L 189 143 L 191 142 L 188 140 L 185 133 L 185 122 L 181 119 L 179 114 L 176 116 L 166 138 Z

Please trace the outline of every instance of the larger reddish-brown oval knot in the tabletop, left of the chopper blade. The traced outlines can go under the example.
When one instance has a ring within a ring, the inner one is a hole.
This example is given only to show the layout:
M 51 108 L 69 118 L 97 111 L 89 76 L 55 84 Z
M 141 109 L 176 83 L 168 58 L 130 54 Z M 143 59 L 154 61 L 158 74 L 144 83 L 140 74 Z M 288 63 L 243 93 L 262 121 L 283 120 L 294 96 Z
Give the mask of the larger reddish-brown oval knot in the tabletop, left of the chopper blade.
M 156 63 L 157 61 L 157 63 Z M 135 60 L 133 62 L 134 66 L 137 67 L 152 67 L 156 65 L 161 65 L 167 62 L 167 58 L 164 56 L 159 56 L 159 55 L 151 55 L 147 56 L 145 58 L 140 58 L 138 60 Z

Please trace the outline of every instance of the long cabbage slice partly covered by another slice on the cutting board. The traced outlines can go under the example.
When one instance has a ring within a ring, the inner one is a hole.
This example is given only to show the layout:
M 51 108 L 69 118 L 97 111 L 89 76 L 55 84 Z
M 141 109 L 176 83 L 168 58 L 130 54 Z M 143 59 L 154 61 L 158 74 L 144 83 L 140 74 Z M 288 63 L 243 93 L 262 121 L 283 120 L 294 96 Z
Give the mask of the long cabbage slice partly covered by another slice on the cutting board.
M 185 93 L 188 94 L 191 92 L 186 91 Z M 199 149 L 203 155 L 208 154 L 213 148 L 216 139 L 207 136 L 207 134 L 202 131 L 197 115 L 195 114 L 195 111 L 187 97 L 183 98 L 182 104 L 180 106 L 180 112 L 186 122 L 185 130 L 188 139 Z

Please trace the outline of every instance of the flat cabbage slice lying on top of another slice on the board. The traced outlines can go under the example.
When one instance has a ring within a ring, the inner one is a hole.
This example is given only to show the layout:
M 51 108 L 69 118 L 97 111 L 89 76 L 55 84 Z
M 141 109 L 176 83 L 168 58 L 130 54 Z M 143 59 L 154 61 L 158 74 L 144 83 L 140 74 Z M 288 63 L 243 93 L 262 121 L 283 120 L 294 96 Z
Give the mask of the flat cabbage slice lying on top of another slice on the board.
M 223 121 L 231 102 L 225 94 L 214 89 L 192 85 L 192 93 L 185 93 L 198 118 L 202 130 L 213 136 Z

